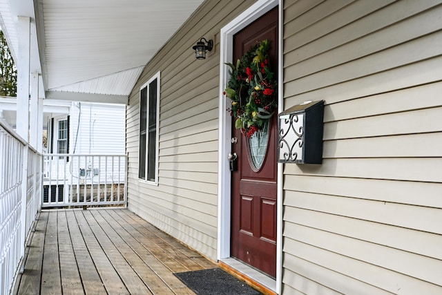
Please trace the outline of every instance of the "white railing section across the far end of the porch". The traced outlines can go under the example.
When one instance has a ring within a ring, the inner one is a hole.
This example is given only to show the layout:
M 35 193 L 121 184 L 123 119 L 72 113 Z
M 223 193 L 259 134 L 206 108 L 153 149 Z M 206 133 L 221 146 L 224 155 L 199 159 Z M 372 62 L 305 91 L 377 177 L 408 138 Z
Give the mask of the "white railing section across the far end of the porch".
M 44 154 L 42 206 L 126 206 L 126 167 L 126 155 Z

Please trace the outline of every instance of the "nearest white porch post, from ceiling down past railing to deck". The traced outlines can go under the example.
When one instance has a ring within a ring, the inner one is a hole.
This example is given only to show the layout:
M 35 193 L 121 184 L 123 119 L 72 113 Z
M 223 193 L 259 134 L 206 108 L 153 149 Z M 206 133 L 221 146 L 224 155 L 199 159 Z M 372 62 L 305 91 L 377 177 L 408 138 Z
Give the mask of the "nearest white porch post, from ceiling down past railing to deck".
M 29 126 L 29 73 L 30 73 L 30 18 L 18 17 L 19 54 L 17 62 L 17 133 L 28 142 Z M 28 190 L 28 144 L 23 148 L 21 167 L 21 235 L 20 257 L 25 254 L 26 193 Z

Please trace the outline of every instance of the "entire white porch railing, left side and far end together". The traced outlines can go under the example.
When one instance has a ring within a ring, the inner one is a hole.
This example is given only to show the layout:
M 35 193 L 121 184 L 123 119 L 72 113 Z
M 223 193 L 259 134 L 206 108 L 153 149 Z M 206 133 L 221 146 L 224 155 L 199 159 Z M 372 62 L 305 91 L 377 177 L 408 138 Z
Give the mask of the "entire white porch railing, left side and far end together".
M 42 206 L 126 206 L 126 169 L 126 155 L 46 154 L 43 161 L 0 120 L 0 294 L 13 287 Z

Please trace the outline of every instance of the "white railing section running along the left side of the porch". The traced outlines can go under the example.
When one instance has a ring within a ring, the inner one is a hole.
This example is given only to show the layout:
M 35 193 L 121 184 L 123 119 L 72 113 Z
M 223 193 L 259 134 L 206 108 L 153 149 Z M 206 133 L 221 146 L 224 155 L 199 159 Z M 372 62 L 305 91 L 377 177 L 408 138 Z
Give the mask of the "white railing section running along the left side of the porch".
M 0 294 L 8 294 L 41 206 L 41 154 L 0 120 Z

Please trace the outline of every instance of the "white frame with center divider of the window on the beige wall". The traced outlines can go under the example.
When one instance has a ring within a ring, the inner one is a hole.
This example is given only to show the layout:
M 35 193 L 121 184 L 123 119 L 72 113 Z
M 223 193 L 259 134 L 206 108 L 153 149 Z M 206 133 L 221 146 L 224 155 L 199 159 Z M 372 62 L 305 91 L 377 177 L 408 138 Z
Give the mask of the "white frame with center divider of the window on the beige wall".
M 153 180 L 149 180 L 148 178 L 148 168 L 149 168 L 149 152 L 152 153 L 152 151 L 149 151 L 148 146 L 149 146 L 149 102 L 150 102 L 150 91 L 149 91 L 149 87 L 150 84 L 152 82 L 155 81 L 155 79 L 157 79 L 156 82 L 156 106 L 155 106 L 155 155 L 153 155 L 154 159 L 155 159 L 155 176 L 153 178 Z M 155 75 L 153 75 L 150 79 L 148 79 L 148 81 L 146 83 L 144 83 L 141 87 L 140 87 L 140 91 L 139 91 L 139 103 L 140 103 L 140 108 L 139 108 L 139 112 L 140 112 L 140 120 L 138 121 L 138 127 L 139 127 L 139 131 L 138 131 L 138 180 L 142 181 L 142 182 L 146 182 L 148 184 L 153 184 L 153 185 L 158 185 L 158 158 L 159 158 L 159 149 L 160 149 L 160 71 L 158 71 Z M 144 90 L 144 88 L 146 88 L 146 129 L 144 131 L 142 131 L 141 126 L 142 126 L 142 91 Z M 141 152 L 142 152 L 142 132 L 144 132 L 144 140 L 145 140 L 145 149 L 144 149 L 144 178 L 141 177 L 140 175 L 140 159 L 141 157 Z

